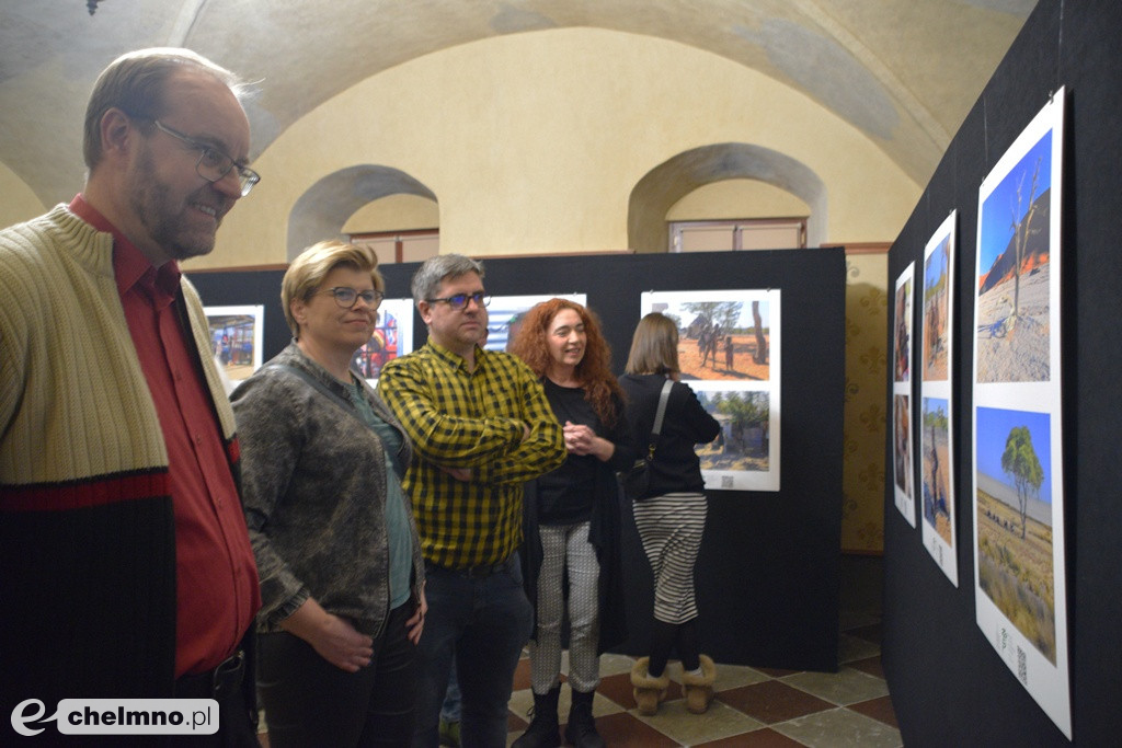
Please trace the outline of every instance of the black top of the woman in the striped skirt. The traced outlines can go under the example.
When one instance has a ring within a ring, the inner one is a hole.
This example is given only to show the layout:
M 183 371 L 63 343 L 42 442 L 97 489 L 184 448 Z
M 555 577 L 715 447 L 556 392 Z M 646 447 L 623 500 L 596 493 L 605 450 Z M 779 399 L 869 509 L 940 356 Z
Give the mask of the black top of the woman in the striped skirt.
M 663 375 L 624 375 L 619 385 L 627 395 L 627 422 L 636 445 L 650 443 L 654 414 L 659 409 L 659 395 L 666 378 Z M 709 415 L 697 395 L 680 381 L 670 388 L 662 433 L 651 463 L 651 486 L 647 498 L 674 492 L 700 493 L 705 489 L 701 461 L 693 451 L 695 444 L 706 444 L 717 438 L 720 424 Z

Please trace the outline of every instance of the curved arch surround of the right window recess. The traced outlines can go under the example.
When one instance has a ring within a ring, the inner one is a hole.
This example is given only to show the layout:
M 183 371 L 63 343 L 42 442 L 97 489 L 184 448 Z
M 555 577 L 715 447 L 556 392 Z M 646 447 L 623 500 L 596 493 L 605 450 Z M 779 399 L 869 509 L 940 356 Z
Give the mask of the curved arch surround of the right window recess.
M 711 182 L 757 179 L 810 206 L 807 246 L 826 240 L 826 185 L 806 164 L 762 146 L 723 142 L 687 150 L 647 172 L 627 204 L 627 244 L 636 252 L 666 251 L 665 216 L 684 195 Z

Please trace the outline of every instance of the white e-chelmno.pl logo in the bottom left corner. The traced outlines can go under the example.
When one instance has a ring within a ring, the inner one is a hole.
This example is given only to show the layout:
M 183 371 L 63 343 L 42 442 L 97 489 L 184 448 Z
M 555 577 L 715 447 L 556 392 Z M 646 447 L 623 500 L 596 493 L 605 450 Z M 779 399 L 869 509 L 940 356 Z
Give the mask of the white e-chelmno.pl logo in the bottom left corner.
M 54 722 L 63 735 L 214 735 L 213 699 L 63 699 L 50 717 L 38 699 L 16 704 L 11 727 L 33 737 Z

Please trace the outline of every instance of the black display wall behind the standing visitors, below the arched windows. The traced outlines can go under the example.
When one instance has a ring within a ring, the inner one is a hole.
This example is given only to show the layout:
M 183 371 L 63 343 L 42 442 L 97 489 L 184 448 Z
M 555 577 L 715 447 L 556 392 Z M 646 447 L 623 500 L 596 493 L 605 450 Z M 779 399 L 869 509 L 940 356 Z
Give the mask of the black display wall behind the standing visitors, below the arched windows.
M 408 296 L 416 265 L 383 268 Z M 781 289 L 782 414 L 778 492 L 714 491 L 698 560 L 706 652 L 717 662 L 834 671 L 838 644 L 845 256 L 838 248 L 686 255 L 595 255 L 485 261 L 497 295 L 587 294 L 622 373 L 644 290 Z M 283 270 L 192 273 L 208 305 L 265 304 L 267 360 L 287 344 Z M 415 321 L 415 345 L 424 326 Z M 645 654 L 652 581 L 624 507 L 631 636 Z

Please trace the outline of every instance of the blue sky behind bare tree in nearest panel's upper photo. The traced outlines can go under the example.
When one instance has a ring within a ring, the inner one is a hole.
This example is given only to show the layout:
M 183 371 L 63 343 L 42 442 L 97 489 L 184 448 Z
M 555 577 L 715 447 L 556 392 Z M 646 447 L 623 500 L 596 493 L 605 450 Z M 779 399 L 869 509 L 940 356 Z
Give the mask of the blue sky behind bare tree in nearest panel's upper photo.
M 982 205 L 982 232 L 981 246 L 978 247 L 978 267 L 983 275 L 993 266 L 994 260 L 1005 251 L 1009 240 L 1013 237 L 1012 211 L 1019 211 L 1017 222 L 1020 223 L 1031 206 L 1029 192 L 1032 188 L 1032 172 L 1037 167 L 1037 159 L 1040 160 L 1040 174 L 1037 176 L 1036 198 L 1051 188 L 1051 145 L 1052 131 L 1048 130 L 985 198 Z M 1022 192 L 1020 207 L 1017 205 L 1018 185 L 1021 186 Z

